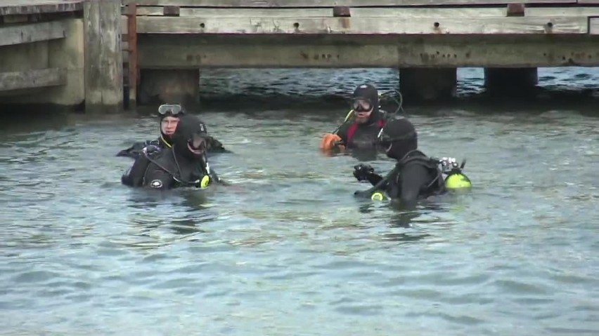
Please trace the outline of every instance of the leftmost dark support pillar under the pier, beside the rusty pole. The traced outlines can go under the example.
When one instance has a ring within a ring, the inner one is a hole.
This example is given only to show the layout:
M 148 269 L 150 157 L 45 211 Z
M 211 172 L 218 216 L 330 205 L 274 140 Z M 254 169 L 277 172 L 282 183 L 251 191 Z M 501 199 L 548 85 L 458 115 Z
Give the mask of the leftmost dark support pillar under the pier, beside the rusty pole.
M 141 69 L 141 105 L 179 102 L 186 106 L 200 102 L 199 69 Z

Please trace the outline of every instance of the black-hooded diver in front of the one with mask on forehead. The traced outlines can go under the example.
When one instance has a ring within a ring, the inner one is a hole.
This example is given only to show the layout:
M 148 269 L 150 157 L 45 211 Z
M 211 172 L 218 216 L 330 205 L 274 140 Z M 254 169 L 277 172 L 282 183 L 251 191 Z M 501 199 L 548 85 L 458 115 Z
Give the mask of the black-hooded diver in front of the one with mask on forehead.
M 211 182 L 222 181 L 206 159 L 207 130 L 193 115 L 179 117 L 172 135 L 172 146 L 161 149 L 148 146 L 121 177 L 130 187 L 173 189 L 176 187 L 205 188 Z

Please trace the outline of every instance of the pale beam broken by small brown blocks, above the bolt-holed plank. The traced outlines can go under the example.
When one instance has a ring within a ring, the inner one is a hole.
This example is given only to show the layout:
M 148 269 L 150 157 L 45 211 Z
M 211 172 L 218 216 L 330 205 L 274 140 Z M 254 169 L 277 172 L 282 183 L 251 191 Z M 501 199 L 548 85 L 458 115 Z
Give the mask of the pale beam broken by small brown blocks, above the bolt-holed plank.
M 123 9 L 125 13 L 126 9 Z M 483 18 L 505 16 L 505 6 L 485 8 L 352 8 L 352 18 Z M 161 6 L 138 7 L 138 16 L 162 16 Z M 525 16 L 595 16 L 599 7 L 529 7 Z M 330 18 L 330 8 L 180 8 L 179 16 L 202 18 Z

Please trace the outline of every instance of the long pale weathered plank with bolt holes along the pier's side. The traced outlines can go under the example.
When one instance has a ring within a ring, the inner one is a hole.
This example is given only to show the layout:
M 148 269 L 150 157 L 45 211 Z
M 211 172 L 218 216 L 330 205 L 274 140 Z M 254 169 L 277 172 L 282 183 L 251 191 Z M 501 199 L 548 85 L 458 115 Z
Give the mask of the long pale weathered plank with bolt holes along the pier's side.
M 546 27 L 548 22 L 552 27 Z M 438 23 L 438 27 L 435 24 Z M 586 34 L 588 18 L 167 18 L 139 17 L 141 34 Z

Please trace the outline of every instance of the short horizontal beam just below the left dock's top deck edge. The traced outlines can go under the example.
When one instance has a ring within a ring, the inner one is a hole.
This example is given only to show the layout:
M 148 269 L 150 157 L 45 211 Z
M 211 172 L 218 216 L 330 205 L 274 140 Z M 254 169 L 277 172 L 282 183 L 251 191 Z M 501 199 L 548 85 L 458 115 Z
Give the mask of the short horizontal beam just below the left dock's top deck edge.
M 51 21 L 0 27 L 0 46 L 63 39 L 67 36 L 64 21 Z

